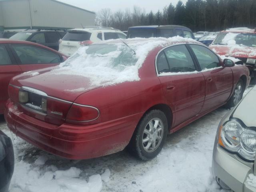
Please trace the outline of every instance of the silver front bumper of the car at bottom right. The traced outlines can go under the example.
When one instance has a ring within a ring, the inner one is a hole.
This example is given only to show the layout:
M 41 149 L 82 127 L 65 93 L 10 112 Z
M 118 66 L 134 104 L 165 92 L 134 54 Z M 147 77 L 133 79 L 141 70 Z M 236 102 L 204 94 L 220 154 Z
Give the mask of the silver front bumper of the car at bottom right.
M 246 183 L 248 175 L 253 173 L 253 163 L 239 160 L 218 145 L 213 152 L 212 172 L 222 187 L 226 185 L 234 192 L 256 192 L 256 188 Z

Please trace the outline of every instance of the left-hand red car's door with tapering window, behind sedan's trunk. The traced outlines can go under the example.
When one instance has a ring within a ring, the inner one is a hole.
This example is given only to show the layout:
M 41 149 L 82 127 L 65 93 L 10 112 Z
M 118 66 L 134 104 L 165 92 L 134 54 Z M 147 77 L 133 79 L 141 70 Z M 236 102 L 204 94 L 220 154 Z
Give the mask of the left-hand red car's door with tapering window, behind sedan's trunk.
M 12 44 L 11 48 L 22 72 L 51 67 L 62 62 L 59 54 L 39 46 Z

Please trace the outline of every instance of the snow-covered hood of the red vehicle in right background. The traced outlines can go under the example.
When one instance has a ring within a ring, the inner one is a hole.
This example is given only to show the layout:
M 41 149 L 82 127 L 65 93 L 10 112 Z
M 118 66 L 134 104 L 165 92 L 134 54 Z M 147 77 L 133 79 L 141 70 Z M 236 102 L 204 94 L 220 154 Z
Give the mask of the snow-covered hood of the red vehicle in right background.
M 218 55 L 236 58 L 256 58 L 256 48 L 243 45 L 210 45 L 209 47 Z

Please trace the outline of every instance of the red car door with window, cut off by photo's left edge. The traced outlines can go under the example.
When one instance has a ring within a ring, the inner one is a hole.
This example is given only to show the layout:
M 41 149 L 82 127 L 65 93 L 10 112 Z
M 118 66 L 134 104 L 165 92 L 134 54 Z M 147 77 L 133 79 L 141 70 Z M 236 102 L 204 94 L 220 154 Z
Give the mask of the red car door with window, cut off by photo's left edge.
M 12 77 L 22 73 L 16 64 L 8 45 L 0 44 L 0 114 L 4 113 L 4 104 L 8 99 L 8 84 Z

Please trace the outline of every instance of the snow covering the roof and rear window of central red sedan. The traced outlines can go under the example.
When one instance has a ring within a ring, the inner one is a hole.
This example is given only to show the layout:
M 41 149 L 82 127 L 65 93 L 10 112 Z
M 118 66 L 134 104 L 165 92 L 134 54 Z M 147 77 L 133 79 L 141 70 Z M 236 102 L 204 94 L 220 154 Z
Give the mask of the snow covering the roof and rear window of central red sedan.
M 151 50 L 166 44 L 196 41 L 179 36 L 168 39 L 133 38 L 125 40 L 130 48 L 120 40 L 107 42 L 108 47 L 106 44 L 94 44 L 80 48 L 73 56 L 60 64 L 60 68 L 50 73 L 83 76 L 90 79 L 92 86 L 139 81 L 138 70 Z M 105 50 L 100 46 L 106 46 Z

